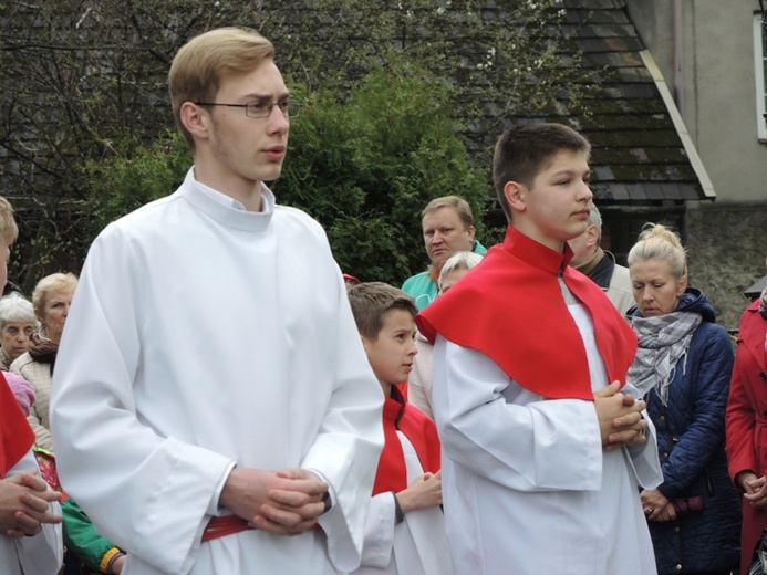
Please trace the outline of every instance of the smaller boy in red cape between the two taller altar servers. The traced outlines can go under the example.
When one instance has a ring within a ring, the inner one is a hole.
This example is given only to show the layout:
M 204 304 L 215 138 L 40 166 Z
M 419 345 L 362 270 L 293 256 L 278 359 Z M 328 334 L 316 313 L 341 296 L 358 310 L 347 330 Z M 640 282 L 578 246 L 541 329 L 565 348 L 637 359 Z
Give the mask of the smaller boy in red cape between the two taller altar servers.
M 370 499 L 362 565 L 354 575 L 450 575 L 434 422 L 397 384 L 413 369 L 415 301 L 385 283 L 354 285 L 349 300 L 373 373 L 386 398 L 385 445 Z

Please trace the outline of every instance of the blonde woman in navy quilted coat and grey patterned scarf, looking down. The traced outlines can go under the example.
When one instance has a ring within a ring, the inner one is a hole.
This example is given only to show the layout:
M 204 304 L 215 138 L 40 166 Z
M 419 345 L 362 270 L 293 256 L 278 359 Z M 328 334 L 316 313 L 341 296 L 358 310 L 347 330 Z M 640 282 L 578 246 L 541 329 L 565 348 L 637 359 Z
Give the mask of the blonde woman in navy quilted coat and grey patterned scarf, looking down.
M 647 224 L 629 271 L 639 348 L 628 380 L 645 395 L 663 470 L 663 483 L 641 493 L 657 572 L 729 574 L 740 520 L 724 450 L 732 344 L 703 292 L 687 285 L 674 232 Z

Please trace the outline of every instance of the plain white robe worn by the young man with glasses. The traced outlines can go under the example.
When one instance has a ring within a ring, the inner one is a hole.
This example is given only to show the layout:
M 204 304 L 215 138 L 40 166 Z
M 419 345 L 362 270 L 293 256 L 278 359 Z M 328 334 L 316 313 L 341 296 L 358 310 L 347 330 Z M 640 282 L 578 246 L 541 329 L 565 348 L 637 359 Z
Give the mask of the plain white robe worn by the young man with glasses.
M 91 248 L 56 359 L 59 473 L 125 575 L 317 573 L 360 561 L 383 395 L 321 227 L 176 194 Z M 322 530 L 200 545 L 234 464 L 317 470 Z

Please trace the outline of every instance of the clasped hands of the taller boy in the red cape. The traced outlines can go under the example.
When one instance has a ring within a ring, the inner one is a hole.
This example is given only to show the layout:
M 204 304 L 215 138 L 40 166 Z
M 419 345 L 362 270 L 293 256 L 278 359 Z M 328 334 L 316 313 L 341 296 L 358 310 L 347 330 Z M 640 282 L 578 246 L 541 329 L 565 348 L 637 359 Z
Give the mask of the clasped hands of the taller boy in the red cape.
M 642 417 L 645 407 L 644 400 L 620 393 L 618 381 L 594 393 L 602 445 L 608 451 L 646 441 L 647 421 Z

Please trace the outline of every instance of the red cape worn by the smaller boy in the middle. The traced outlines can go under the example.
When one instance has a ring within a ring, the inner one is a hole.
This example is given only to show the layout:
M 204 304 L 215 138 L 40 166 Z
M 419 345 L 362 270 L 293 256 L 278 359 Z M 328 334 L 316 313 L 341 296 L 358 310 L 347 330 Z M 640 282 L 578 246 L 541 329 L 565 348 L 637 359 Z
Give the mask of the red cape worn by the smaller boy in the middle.
M 397 429 L 413 443 L 424 472 L 439 471 L 439 437 L 437 427 L 417 408 L 405 402 L 400 390 L 392 386 L 391 397 L 384 401 L 383 409 L 384 448 L 375 472 L 373 494 L 407 488 L 405 454 L 397 437 Z

